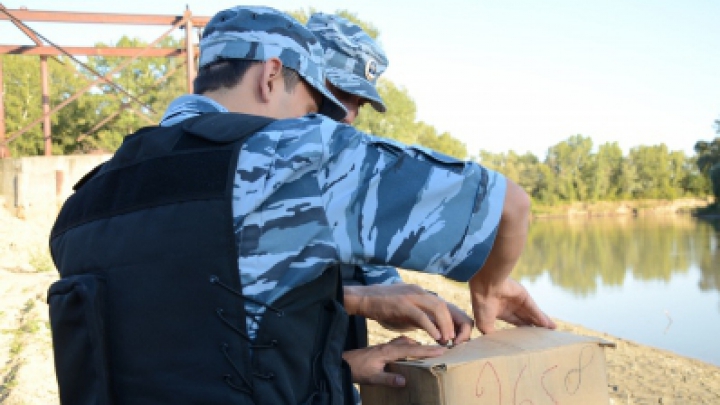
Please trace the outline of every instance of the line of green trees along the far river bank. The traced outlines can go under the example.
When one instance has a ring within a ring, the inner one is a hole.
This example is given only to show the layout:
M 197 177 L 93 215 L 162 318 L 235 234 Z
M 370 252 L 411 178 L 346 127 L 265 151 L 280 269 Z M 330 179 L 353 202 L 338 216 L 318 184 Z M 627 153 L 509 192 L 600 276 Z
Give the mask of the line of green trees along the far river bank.
M 696 155 L 686 156 L 660 144 L 637 146 L 623 154 L 617 142 L 594 148 L 589 137 L 574 135 L 550 147 L 542 160 L 532 153 L 483 150 L 478 161 L 505 174 L 544 205 L 673 200 L 708 196 L 711 185 L 716 184 L 711 182 L 715 179 L 711 173 L 720 171 L 720 138 L 700 141 L 695 149 Z M 720 196 L 717 191 L 715 195 Z

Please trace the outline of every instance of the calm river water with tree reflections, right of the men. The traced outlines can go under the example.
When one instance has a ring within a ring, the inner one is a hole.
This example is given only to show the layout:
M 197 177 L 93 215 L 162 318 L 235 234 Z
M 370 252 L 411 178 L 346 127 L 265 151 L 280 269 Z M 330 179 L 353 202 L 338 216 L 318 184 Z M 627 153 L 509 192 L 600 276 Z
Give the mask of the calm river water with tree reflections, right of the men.
M 514 275 L 551 317 L 720 366 L 720 221 L 534 220 Z

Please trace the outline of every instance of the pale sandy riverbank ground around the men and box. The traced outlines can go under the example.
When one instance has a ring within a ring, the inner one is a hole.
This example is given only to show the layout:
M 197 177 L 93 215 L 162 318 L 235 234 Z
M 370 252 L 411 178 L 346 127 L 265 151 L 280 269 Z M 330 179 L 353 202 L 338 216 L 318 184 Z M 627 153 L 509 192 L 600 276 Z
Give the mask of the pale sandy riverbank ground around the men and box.
M 57 279 L 47 253 L 48 223 L 0 208 L 0 404 L 58 404 L 45 295 Z M 442 278 L 403 272 L 470 312 L 467 292 Z M 606 350 L 613 404 L 720 404 L 720 367 L 556 320 L 560 330 L 614 342 Z M 396 334 L 371 324 L 371 343 Z M 411 337 L 431 343 L 420 333 Z

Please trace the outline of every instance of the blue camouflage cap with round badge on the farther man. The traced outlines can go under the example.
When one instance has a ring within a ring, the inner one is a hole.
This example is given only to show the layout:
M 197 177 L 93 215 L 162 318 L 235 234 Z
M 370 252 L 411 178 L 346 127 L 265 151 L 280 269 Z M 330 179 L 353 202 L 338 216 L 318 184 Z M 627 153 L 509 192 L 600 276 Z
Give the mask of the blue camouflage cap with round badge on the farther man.
M 335 87 L 370 101 L 379 112 L 385 103 L 375 85 L 387 69 L 385 52 L 358 25 L 324 13 L 310 16 L 307 27 L 325 49 L 327 78 Z

